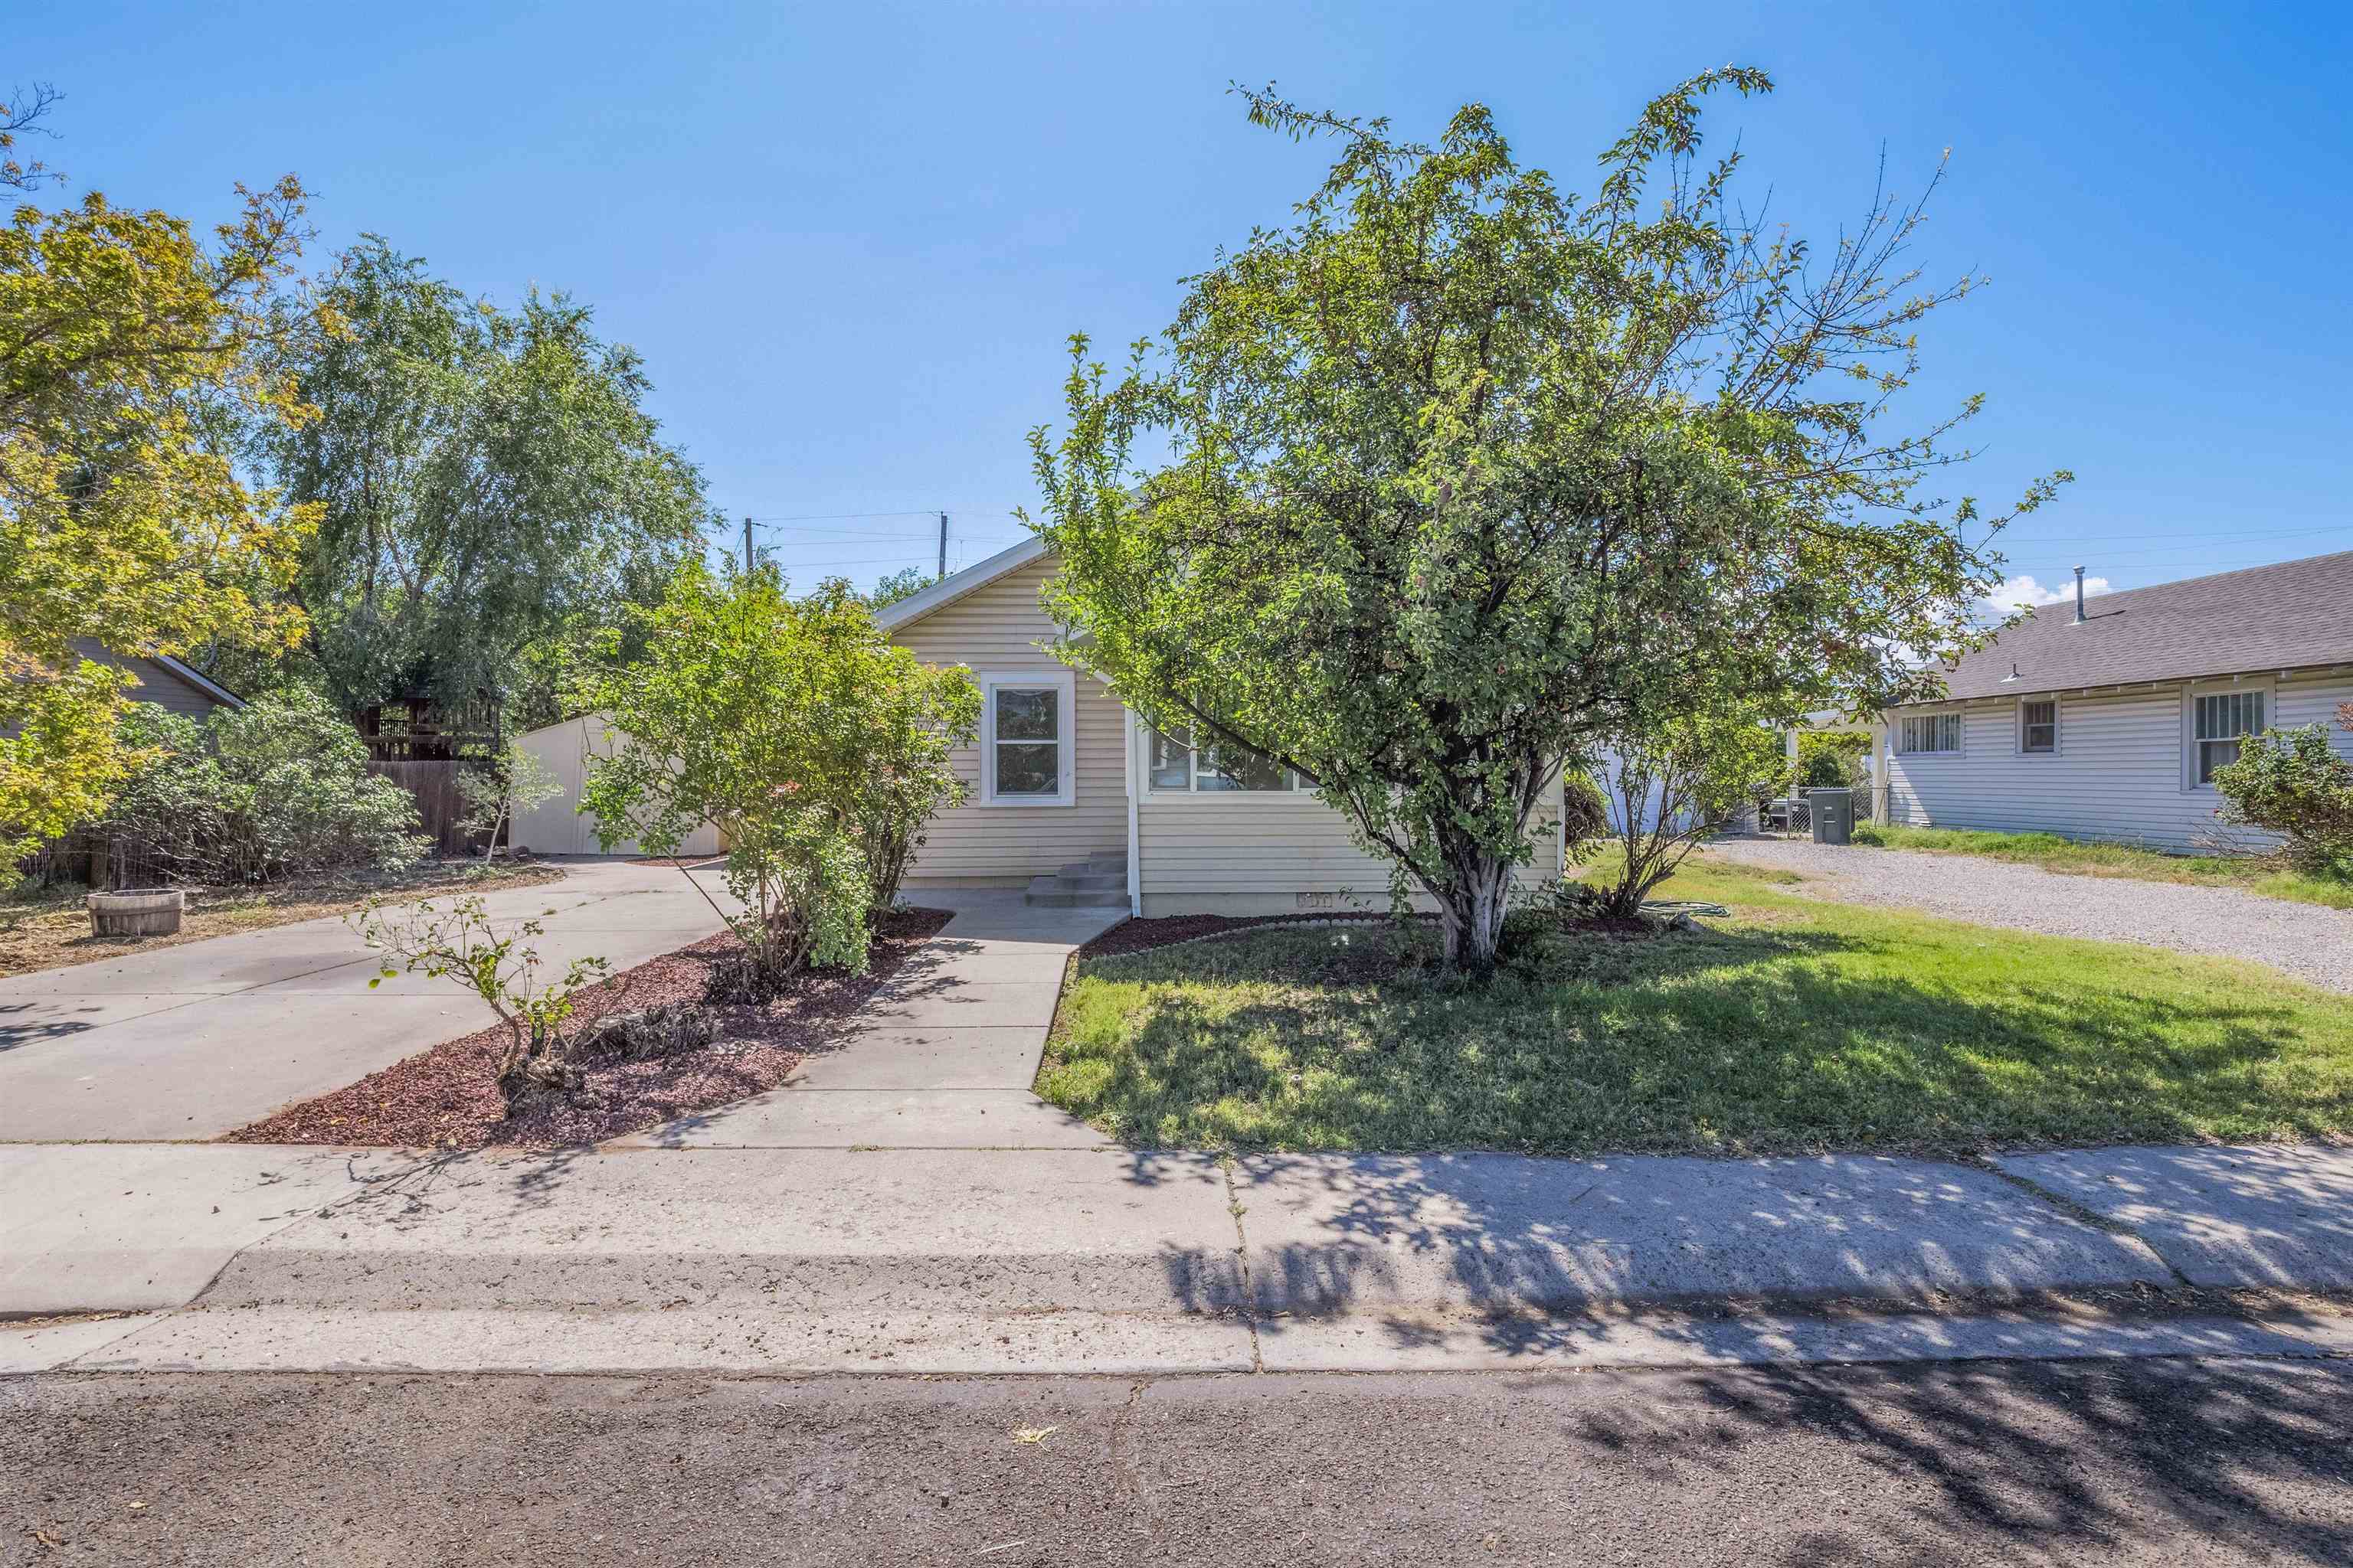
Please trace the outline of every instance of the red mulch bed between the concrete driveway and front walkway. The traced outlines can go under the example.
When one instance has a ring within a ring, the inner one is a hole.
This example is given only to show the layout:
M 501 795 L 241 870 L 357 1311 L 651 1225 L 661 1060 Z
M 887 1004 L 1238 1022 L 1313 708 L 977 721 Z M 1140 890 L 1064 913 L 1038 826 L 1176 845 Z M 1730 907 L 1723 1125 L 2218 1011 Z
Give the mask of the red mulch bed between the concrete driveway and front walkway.
M 602 1143 L 673 1117 L 765 1093 L 791 1077 L 809 1048 L 826 1044 L 875 994 L 915 947 L 948 924 L 948 910 L 892 910 L 882 917 L 868 971 L 845 976 L 805 971 L 800 985 L 765 1006 L 715 1006 L 718 1037 L 701 1051 L 656 1056 L 642 1063 L 619 1056 L 579 1056 L 588 1074 L 574 1095 L 551 1098 L 518 1119 L 492 1081 L 494 1051 L 506 1027 L 449 1039 L 431 1051 L 369 1072 L 348 1088 L 289 1105 L 240 1126 L 224 1143 L 332 1143 L 388 1145 L 405 1150 L 480 1150 L 518 1145 L 551 1150 Z M 584 990 L 572 1027 L 605 1013 L 692 1001 L 720 954 L 739 947 L 732 933 L 680 947 L 624 969 L 612 980 Z

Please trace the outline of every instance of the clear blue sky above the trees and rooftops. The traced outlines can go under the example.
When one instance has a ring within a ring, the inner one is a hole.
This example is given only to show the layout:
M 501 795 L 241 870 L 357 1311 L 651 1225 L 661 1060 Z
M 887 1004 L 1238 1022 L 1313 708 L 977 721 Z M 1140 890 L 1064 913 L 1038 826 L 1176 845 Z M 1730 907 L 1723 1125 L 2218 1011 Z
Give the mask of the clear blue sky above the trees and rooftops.
M 1014 541 L 1064 336 L 1162 327 L 1176 280 L 1325 162 L 1228 80 L 1522 162 L 1591 160 L 1722 61 L 1751 193 L 1828 237 L 1951 148 L 1918 259 L 1993 287 L 1932 322 L 1925 414 L 1984 390 L 1962 484 L 2073 468 L 2007 541 L 2118 588 L 2353 548 L 2344 5 L 104 5 L 24 0 L 16 80 L 78 188 L 216 219 L 294 169 L 459 287 L 569 289 L 807 581 Z

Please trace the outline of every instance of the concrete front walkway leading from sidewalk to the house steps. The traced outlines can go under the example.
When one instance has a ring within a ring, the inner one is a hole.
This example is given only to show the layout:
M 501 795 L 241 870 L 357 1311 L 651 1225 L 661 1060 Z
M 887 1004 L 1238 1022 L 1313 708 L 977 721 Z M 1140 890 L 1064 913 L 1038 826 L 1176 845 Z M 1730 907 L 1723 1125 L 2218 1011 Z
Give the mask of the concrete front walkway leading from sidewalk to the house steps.
M 774 1093 L 656 1126 L 661 1150 L 1092 1150 L 1104 1135 L 1031 1093 L 1061 973 L 1125 910 L 1033 910 L 1021 893 L 911 889 L 955 919 L 840 1046 Z

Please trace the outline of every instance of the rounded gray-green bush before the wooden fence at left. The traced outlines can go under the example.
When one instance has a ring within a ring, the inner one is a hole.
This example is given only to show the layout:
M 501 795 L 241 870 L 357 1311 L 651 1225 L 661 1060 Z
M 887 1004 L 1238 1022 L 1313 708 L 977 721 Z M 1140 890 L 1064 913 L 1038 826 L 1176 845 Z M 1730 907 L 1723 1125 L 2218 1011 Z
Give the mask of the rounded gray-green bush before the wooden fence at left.
M 226 886 L 414 865 L 416 802 L 367 773 L 367 745 L 308 691 L 214 708 L 202 722 L 132 703 L 136 757 L 99 832 L 134 839 L 172 882 Z

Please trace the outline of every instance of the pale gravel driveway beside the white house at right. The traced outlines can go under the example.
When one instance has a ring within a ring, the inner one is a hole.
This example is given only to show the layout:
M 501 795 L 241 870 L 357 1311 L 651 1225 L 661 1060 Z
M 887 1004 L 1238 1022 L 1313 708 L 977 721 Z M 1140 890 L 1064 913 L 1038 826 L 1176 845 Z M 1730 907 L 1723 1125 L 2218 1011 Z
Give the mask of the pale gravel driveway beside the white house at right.
M 1812 882 L 1793 891 L 1814 898 L 1925 910 L 1979 926 L 2254 959 L 2311 985 L 2353 992 L 2353 910 L 2179 882 L 2064 877 L 2038 865 L 1915 849 L 1727 839 L 1706 853 L 1800 872 Z

